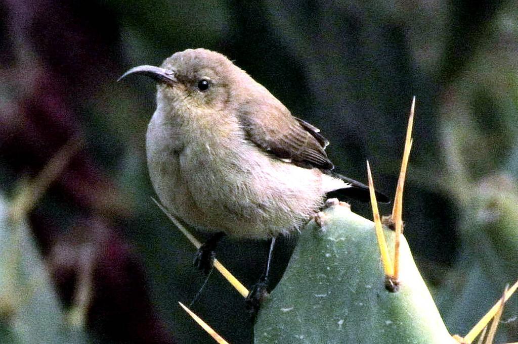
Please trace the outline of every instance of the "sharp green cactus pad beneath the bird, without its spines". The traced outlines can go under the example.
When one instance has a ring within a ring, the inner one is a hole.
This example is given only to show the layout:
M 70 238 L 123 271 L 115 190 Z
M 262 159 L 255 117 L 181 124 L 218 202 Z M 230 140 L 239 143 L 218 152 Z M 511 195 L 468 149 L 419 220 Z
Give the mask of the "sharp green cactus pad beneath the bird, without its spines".
M 255 343 L 456 343 L 400 243 L 398 292 L 385 288 L 374 223 L 344 206 L 311 221 L 283 279 L 264 302 Z M 393 254 L 394 232 L 385 229 Z M 274 258 L 275 259 L 275 258 Z

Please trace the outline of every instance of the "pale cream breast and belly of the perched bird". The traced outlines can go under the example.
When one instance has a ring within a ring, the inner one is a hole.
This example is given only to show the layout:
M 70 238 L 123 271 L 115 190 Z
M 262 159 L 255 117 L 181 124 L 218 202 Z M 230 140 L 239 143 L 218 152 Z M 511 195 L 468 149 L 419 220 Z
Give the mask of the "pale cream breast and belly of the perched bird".
M 269 157 L 242 137 L 191 137 L 164 123 L 157 109 L 148 127 L 152 184 L 176 216 L 208 231 L 267 238 L 299 228 L 321 206 L 326 178 Z

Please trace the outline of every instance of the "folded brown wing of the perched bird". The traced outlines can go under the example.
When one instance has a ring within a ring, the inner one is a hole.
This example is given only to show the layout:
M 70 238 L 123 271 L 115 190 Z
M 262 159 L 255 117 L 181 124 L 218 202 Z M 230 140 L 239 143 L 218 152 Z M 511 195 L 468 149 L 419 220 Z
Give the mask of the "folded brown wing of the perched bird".
M 240 106 L 238 113 L 247 139 L 267 153 L 300 167 L 334 168 L 324 152 L 329 142 L 320 130 L 293 117 L 277 99 L 249 100 Z

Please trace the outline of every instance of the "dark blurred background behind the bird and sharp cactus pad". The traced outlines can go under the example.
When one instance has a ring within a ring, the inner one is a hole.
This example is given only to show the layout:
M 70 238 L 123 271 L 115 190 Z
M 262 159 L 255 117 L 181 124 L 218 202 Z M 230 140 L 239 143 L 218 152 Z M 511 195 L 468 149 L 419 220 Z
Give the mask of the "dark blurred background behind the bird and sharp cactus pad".
M 0 342 L 213 342 L 178 306 L 204 281 L 194 248 L 150 200 L 155 87 L 116 82 L 198 47 L 227 55 L 321 128 L 340 173 L 365 181 L 368 159 L 391 197 L 415 95 L 405 235 L 450 332 L 465 335 L 518 278 L 514 1 L 3 0 Z M 84 147 L 13 225 L 20 181 L 71 138 Z M 368 204 L 352 208 L 371 216 Z M 281 262 L 293 242 L 281 243 Z M 265 243 L 225 240 L 218 257 L 250 287 Z M 70 330 L 62 309 L 76 309 L 81 290 L 84 326 Z M 518 341 L 516 299 L 497 342 Z M 242 297 L 218 274 L 192 309 L 229 342 L 253 341 Z

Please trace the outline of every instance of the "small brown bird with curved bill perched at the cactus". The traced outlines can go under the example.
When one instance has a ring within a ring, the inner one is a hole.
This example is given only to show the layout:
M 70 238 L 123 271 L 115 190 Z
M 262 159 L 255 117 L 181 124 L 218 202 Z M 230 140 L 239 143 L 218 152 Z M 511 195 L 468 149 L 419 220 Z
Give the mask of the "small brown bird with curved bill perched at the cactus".
M 367 186 L 331 172 L 320 130 L 292 116 L 222 54 L 188 49 L 121 79 L 132 73 L 157 82 L 146 136 L 157 195 L 175 216 L 218 233 L 197 258 L 206 272 L 222 233 L 288 234 L 319 211 L 329 192 L 368 201 Z

